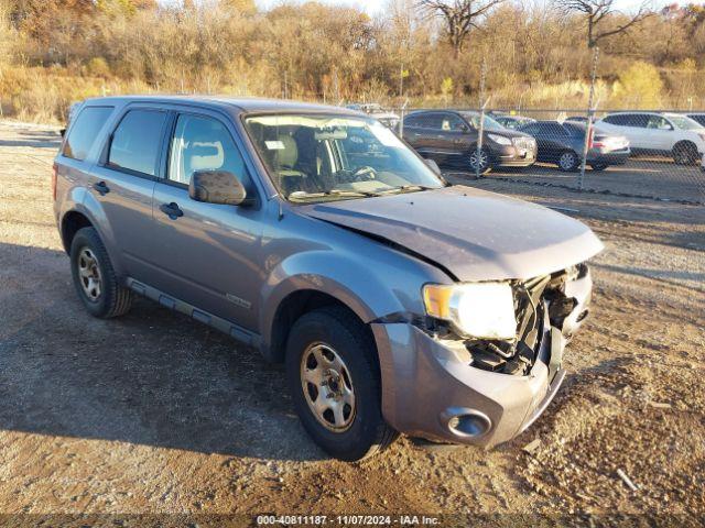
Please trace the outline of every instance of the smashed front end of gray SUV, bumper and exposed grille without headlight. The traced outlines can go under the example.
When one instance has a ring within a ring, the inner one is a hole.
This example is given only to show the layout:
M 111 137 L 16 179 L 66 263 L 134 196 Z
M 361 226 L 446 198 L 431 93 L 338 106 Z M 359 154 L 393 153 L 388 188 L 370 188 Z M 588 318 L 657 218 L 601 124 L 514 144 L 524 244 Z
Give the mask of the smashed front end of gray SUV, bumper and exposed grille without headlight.
M 592 278 L 579 264 L 511 282 L 511 290 L 512 339 L 468 337 L 430 317 L 372 324 L 383 414 L 394 428 L 432 441 L 492 447 L 541 416 L 565 375 L 563 350 L 588 314 Z

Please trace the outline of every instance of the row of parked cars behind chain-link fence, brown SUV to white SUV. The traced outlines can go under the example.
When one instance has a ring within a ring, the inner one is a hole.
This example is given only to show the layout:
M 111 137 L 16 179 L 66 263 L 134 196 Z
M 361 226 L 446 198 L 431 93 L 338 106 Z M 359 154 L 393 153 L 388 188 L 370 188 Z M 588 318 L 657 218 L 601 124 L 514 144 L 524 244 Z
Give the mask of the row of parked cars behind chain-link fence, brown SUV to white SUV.
M 453 168 L 489 172 L 552 163 L 576 170 L 586 144 L 587 118 L 536 120 L 525 116 L 463 110 L 417 110 L 408 114 L 402 135 L 422 156 Z M 481 146 L 479 146 L 481 145 Z M 586 165 L 604 170 L 630 155 L 666 155 L 680 165 L 705 170 L 705 112 L 615 112 L 594 123 Z

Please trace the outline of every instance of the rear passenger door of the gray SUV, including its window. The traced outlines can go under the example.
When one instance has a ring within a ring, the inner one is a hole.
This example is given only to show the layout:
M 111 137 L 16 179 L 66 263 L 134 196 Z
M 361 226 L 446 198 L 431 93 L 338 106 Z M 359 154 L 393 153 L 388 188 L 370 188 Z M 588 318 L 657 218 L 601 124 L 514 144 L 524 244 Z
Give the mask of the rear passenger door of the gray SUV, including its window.
M 128 106 L 90 177 L 90 199 L 101 206 L 124 272 L 140 279 L 147 279 L 152 270 L 152 193 L 166 118 L 167 112 L 159 108 Z

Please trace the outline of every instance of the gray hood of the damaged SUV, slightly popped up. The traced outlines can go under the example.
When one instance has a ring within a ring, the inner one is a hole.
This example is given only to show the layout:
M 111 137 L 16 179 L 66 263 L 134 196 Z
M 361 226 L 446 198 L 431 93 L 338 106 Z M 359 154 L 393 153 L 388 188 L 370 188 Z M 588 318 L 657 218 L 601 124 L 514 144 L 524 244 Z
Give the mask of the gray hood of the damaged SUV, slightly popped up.
M 584 262 L 603 249 L 593 231 L 577 220 L 464 186 L 296 210 L 391 241 L 457 280 L 528 279 Z

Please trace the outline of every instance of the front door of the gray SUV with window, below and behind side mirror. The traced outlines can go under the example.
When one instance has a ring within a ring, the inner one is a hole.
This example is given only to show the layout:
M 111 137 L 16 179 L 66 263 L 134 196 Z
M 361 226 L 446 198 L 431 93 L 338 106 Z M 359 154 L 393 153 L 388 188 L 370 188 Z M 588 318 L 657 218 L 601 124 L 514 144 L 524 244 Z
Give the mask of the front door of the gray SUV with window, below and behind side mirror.
M 180 113 L 166 179 L 154 188 L 153 252 L 160 276 L 152 286 L 256 331 L 263 210 L 191 199 L 188 183 L 195 170 L 230 172 L 250 196 L 256 193 L 226 123 L 214 116 Z

